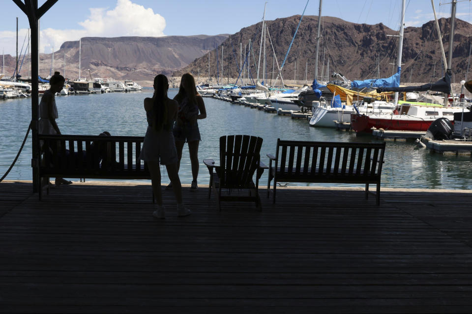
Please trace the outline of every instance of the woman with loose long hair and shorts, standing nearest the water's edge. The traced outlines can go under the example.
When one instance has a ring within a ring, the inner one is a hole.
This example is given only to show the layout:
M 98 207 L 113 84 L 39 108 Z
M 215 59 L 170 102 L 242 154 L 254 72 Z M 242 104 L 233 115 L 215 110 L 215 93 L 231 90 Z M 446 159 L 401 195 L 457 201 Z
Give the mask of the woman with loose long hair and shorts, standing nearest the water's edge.
M 183 145 L 187 142 L 193 178 L 190 189 L 196 190 L 199 170 L 198 145 L 201 141 L 197 120 L 205 119 L 207 117 L 207 110 L 202 96 L 198 94 L 195 87 L 195 79 L 190 73 L 182 75 L 180 87 L 174 100 L 178 103 L 177 121 L 174 126 L 174 137 L 176 139 L 178 155 L 177 168 L 180 168 Z

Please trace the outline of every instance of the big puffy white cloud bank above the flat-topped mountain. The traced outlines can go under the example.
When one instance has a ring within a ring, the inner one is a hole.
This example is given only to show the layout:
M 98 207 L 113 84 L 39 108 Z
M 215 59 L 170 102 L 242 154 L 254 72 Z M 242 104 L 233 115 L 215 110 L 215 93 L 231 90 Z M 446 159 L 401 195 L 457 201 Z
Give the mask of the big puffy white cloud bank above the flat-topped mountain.
M 81 37 L 119 37 L 119 36 L 164 36 L 166 20 L 154 13 L 151 8 L 131 2 L 131 0 L 117 0 L 115 8 L 90 8 L 89 18 L 78 24 L 78 29 L 40 30 L 40 52 L 59 50 L 65 41 L 79 40 Z M 28 29 L 19 30 L 19 50 L 22 38 Z M 15 53 L 16 32 L 0 31 L 0 47 L 5 53 Z M 26 44 L 25 44 L 26 48 Z

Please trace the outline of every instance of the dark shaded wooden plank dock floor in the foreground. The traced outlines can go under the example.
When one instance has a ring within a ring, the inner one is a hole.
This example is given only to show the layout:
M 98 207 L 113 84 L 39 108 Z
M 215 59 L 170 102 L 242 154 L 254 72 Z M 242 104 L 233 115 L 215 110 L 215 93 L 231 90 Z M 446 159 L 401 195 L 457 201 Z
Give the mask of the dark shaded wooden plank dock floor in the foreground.
M 107 183 L 108 184 L 108 183 Z M 472 194 L 0 183 L 0 313 L 472 313 Z

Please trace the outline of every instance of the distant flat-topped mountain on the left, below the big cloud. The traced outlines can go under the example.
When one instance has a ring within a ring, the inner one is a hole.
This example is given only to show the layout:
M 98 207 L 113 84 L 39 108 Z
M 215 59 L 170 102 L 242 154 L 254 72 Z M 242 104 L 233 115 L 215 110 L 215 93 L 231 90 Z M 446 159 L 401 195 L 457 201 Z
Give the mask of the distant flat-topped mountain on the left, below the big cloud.
M 85 37 L 81 40 L 81 76 L 92 78 L 116 78 L 150 80 L 156 73 L 172 74 L 195 58 L 214 49 L 228 35 L 196 35 L 165 37 Z M 39 74 L 47 77 L 59 71 L 67 78 L 79 75 L 79 41 L 68 41 L 52 54 L 39 57 Z M 0 58 L 1 62 L 1 58 Z M 15 69 L 16 57 L 5 55 L 5 75 Z M 21 64 L 21 59 L 20 59 Z M 89 73 L 90 71 L 90 73 Z M 28 61 L 25 58 L 20 74 L 28 76 Z

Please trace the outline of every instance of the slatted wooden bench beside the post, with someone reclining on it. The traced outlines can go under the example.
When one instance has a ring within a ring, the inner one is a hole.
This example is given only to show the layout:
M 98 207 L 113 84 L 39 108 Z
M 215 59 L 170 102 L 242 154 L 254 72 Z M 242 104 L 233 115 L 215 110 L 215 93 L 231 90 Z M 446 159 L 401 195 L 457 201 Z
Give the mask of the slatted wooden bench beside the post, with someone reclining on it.
M 39 134 L 39 199 L 44 177 L 150 180 L 147 165 L 138 159 L 143 141 L 143 136 Z

